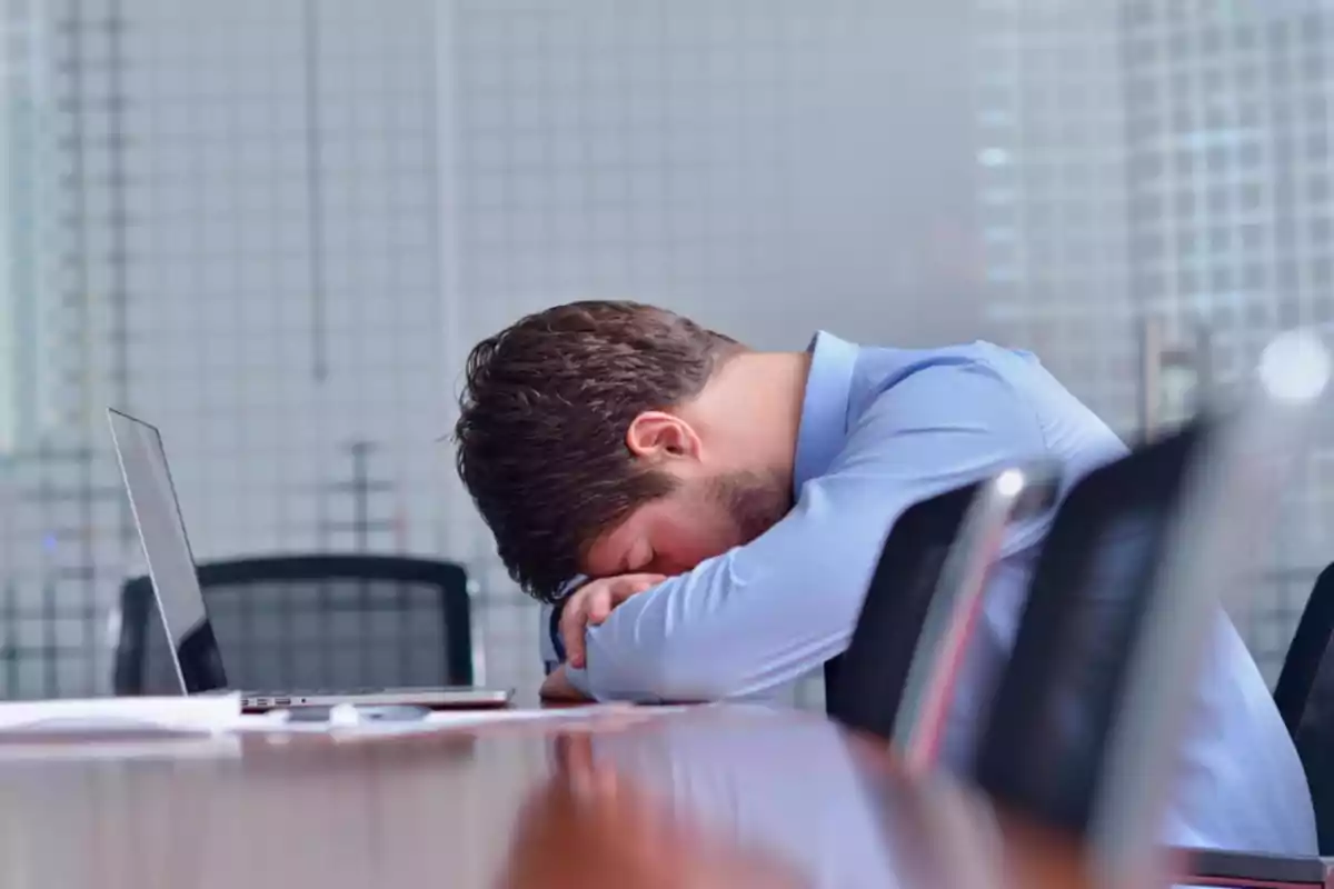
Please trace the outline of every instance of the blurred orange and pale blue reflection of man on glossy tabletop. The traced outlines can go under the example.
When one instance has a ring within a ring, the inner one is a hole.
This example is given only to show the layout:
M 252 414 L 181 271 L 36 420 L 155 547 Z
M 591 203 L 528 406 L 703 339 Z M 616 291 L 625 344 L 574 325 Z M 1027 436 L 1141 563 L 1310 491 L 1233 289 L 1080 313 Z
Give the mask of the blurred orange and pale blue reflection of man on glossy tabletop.
M 990 809 L 823 720 L 700 710 L 552 741 L 503 885 L 1006 882 Z M 546 882 L 543 882 L 546 880 Z

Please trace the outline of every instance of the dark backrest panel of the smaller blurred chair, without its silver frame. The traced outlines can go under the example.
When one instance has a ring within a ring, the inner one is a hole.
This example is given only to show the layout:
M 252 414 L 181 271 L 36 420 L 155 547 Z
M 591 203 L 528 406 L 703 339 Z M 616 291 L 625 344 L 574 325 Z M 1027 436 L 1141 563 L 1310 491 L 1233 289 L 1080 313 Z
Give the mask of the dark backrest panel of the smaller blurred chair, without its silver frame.
M 826 672 L 834 718 L 890 737 L 931 596 L 978 489 L 972 484 L 924 500 L 894 522 L 848 648 Z

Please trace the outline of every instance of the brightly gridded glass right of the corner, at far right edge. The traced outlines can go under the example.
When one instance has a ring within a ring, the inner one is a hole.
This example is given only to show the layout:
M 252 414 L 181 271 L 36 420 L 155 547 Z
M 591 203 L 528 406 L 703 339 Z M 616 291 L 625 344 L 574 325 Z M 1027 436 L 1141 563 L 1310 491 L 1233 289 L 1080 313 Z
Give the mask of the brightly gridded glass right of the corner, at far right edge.
M 1334 13 L 1318 0 L 1141 0 L 1123 33 L 1131 299 L 1194 343 L 1198 377 L 1230 387 L 1275 332 L 1334 329 Z M 1291 633 L 1331 532 L 1327 427 L 1291 486 L 1259 645 Z

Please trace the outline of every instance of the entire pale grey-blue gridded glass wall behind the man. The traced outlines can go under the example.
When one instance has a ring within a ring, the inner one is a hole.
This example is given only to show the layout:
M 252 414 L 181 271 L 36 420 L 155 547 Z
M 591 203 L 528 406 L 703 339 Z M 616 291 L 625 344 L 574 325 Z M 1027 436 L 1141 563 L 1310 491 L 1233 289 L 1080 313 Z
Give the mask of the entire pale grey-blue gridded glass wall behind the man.
M 1334 321 L 1318 0 L 0 9 L 0 697 L 109 690 L 141 564 L 107 405 L 161 428 L 200 560 L 462 561 L 486 678 L 534 685 L 535 606 L 440 441 L 527 311 L 995 339 L 1127 439 Z M 1334 557 L 1331 453 L 1242 621 L 1271 677 Z

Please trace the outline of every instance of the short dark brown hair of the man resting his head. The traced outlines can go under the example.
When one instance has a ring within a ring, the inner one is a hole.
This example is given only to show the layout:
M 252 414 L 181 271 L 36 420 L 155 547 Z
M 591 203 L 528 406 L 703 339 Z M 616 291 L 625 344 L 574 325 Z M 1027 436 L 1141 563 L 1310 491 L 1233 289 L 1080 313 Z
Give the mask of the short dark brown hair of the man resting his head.
M 454 431 L 459 477 L 526 592 L 551 601 L 600 534 L 672 490 L 635 464 L 630 424 L 699 395 L 742 348 L 619 301 L 558 305 L 474 347 Z

